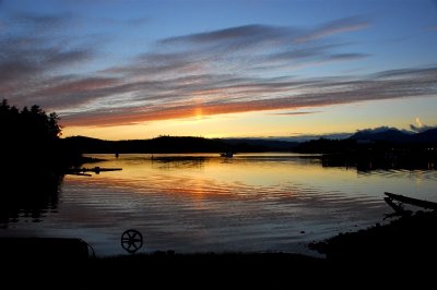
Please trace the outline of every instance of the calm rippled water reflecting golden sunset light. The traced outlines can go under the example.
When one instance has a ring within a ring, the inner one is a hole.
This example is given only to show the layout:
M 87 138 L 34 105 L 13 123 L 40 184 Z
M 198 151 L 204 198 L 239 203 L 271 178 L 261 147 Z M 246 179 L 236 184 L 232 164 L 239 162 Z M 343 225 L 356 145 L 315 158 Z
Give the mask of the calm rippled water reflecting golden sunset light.
M 93 155 L 121 167 L 66 176 L 40 215 L 17 214 L 1 237 L 66 237 L 99 256 L 126 253 L 121 233 L 144 237 L 140 252 L 283 251 L 383 221 L 383 192 L 437 202 L 437 171 L 322 167 L 294 154 Z

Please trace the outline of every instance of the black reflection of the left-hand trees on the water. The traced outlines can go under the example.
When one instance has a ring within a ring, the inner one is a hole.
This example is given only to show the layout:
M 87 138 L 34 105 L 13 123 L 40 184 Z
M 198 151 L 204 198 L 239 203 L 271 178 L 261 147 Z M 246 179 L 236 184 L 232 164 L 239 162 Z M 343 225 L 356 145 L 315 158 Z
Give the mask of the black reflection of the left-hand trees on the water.
M 48 170 L 2 172 L 0 223 L 20 220 L 39 222 L 47 212 L 56 212 L 62 176 Z

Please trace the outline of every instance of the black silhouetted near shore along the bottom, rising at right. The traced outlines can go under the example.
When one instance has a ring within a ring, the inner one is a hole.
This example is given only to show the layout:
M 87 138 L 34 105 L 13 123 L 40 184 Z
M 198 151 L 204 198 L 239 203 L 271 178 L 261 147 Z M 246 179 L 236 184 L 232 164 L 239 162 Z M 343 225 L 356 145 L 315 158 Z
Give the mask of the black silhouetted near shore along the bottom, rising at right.
M 33 245 L 9 240 L 8 245 L 3 240 L 2 280 L 12 281 L 17 289 L 295 289 L 381 283 L 417 289 L 435 283 L 436 225 L 436 213 L 418 212 L 386 226 L 309 245 L 324 258 L 292 253 L 172 251 L 93 257 L 90 252 L 83 255 L 83 243 L 74 240 L 50 240 L 50 246 L 36 240 Z

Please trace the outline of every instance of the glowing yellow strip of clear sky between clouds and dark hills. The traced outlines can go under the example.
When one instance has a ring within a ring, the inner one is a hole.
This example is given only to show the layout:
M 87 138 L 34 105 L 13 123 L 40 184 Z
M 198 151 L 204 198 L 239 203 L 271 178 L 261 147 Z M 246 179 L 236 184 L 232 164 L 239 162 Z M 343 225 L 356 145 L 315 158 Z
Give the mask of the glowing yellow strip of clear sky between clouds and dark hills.
M 223 114 L 203 114 L 198 107 L 192 117 L 156 120 L 115 126 L 64 126 L 62 136 L 83 135 L 103 140 L 141 140 L 160 135 L 202 137 L 284 137 L 332 133 L 354 133 L 356 130 L 381 125 L 409 130 L 409 123 L 436 125 L 437 97 L 364 101 L 336 105 L 317 110 L 271 110 Z M 398 110 L 387 110 L 395 104 Z M 344 120 L 353 122 L 344 122 Z M 322 125 L 321 125 L 322 124 Z

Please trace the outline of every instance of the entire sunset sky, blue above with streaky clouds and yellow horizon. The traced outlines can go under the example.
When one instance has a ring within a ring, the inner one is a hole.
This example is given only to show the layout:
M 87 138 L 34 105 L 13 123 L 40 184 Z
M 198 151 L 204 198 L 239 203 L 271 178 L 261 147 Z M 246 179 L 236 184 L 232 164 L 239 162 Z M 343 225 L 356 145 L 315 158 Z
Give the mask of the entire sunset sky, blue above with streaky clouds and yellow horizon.
M 0 0 L 0 98 L 63 136 L 437 125 L 437 1 Z

